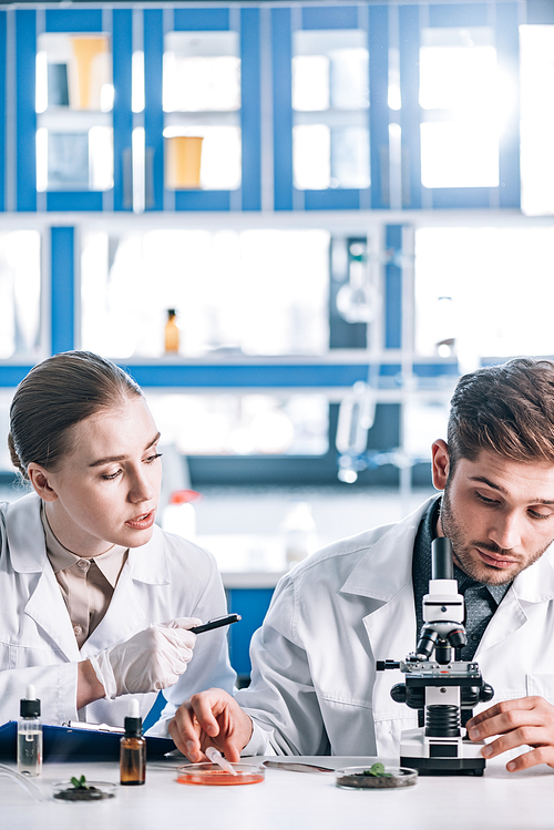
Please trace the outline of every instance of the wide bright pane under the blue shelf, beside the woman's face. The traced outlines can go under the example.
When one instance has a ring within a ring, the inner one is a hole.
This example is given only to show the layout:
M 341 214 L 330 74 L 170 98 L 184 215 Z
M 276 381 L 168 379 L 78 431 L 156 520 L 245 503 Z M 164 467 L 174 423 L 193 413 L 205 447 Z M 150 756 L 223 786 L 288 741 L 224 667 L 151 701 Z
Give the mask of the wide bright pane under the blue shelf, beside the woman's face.
M 324 394 L 147 393 L 164 443 L 185 455 L 322 455 Z

